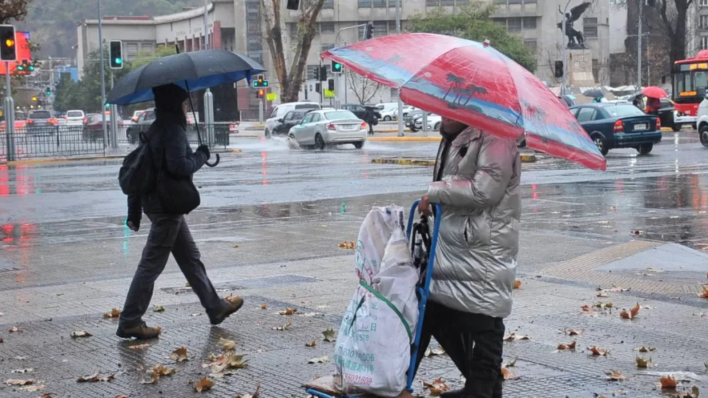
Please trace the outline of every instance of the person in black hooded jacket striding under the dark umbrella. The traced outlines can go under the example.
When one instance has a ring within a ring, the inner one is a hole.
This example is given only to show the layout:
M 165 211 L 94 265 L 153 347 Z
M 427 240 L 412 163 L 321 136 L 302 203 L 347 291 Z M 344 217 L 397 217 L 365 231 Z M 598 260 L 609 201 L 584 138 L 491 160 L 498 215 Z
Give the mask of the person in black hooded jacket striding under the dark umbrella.
M 189 146 L 185 133 L 187 118 L 182 106 L 188 93 L 174 84 L 155 87 L 152 91 L 156 120 L 147 132 L 147 140 L 152 149 L 154 166 L 158 174 L 166 168 L 171 176 L 192 178 L 209 160 L 210 153 L 206 145 L 198 147 L 196 152 L 192 152 Z M 220 324 L 238 311 L 244 304 L 241 297 L 227 301 L 217 295 L 184 215 L 164 212 L 157 191 L 128 196 L 126 224 L 133 231 L 140 228 L 142 212 L 152 224 L 115 334 L 125 339 L 150 339 L 160 334 L 161 328 L 147 326 L 142 316 L 152 299 L 155 280 L 164 270 L 170 253 L 205 307 L 212 324 Z

